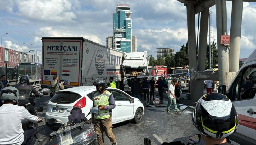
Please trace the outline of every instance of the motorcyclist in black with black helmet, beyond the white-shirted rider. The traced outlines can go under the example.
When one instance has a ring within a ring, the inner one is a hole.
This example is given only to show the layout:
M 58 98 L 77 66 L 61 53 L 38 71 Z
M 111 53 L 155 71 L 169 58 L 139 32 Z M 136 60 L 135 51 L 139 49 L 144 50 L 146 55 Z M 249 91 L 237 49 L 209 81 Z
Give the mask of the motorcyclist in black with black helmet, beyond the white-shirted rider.
M 28 94 L 30 98 L 32 97 L 32 93 L 36 97 L 40 97 L 40 94 L 36 91 L 36 89 L 29 85 L 29 76 L 27 75 L 21 76 L 19 80 L 19 84 L 14 85 L 13 87 L 17 88 L 20 94 L 21 93 Z M 26 106 L 29 107 L 29 110 L 28 110 L 29 113 L 36 116 L 37 115 L 36 111 L 31 103 L 35 104 L 33 99 L 30 99 L 30 102 L 26 104 Z M 37 126 L 38 124 L 34 123 L 34 127 L 37 127 Z

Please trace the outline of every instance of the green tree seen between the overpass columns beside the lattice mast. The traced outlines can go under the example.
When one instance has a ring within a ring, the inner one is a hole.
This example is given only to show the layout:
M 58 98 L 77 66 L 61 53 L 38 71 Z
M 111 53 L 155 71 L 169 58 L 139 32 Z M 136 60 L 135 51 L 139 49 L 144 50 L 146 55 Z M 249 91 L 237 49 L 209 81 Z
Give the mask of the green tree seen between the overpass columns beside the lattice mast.
M 216 49 L 216 42 L 215 40 L 212 42 L 211 44 L 211 48 L 212 48 L 212 52 L 213 52 L 213 68 L 216 66 L 216 64 L 218 64 L 218 50 Z M 206 60 L 205 60 L 205 69 L 209 69 L 210 66 L 209 66 L 209 56 L 210 56 L 210 53 L 209 53 L 209 44 L 207 44 L 206 46 Z

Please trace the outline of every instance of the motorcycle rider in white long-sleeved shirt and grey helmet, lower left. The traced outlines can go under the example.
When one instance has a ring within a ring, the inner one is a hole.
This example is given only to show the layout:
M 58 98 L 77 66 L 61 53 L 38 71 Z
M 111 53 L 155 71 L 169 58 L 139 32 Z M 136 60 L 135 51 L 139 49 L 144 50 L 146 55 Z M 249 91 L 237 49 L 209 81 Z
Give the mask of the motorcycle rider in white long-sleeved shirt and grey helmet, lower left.
M 19 91 L 15 87 L 6 87 L 1 95 L 0 107 L 0 144 L 1 145 L 31 145 L 34 128 L 23 131 L 21 120 L 26 119 L 33 123 L 42 119 L 31 115 L 24 107 L 16 105 L 19 100 Z

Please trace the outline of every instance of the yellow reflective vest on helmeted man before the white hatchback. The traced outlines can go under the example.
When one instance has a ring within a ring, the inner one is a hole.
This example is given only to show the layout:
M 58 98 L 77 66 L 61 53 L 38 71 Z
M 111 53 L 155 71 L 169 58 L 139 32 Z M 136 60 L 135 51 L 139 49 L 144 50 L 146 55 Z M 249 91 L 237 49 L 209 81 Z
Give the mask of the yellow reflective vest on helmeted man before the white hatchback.
M 99 93 L 95 93 L 94 94 L 94 106 L 98 107 L 99 105 L 107 105 L 109 106 L 109 97 L 110 97 L 111 93 L 109 91 L 106 91 L 105 94 L 103 95 L 99 95 Z M 110 114 L 109 114 L 109 110 L 99 110 L 97 113 L 94 114 L 94 118 L 95 119 L 106 119 L 109 118 Z

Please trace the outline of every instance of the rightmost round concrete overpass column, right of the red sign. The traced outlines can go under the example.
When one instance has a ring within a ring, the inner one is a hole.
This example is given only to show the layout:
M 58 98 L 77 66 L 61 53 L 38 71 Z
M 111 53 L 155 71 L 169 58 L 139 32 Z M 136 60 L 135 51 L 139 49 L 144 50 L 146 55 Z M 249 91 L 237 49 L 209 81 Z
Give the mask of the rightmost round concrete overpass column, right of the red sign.
M 232 1 L 229 72 L 238 72 L 242 27 L 243 0 Z

